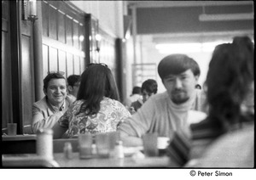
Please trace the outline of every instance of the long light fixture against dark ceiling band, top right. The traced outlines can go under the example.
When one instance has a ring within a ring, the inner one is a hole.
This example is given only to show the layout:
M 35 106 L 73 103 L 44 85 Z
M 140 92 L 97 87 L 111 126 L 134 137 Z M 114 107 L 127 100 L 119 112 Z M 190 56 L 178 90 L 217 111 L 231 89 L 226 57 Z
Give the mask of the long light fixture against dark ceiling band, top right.
M 253 20 L 253 13 L 240 14 L 200 14 L 200 21 L 223 21 L 223 20 Z

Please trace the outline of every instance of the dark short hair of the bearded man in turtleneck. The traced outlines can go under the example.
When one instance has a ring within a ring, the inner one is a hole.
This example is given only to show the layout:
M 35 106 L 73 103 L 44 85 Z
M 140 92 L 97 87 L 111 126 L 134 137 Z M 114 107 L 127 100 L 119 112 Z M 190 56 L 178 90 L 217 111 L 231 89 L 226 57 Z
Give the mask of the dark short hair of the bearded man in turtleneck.
M 196 61 L 185 54 L 171 54 L 161 59 L 158 74 L 163 80 L 169 75 L 178 75 L 185 70 L 192 70 L 194 76 L 200 76 L 200 68 Z

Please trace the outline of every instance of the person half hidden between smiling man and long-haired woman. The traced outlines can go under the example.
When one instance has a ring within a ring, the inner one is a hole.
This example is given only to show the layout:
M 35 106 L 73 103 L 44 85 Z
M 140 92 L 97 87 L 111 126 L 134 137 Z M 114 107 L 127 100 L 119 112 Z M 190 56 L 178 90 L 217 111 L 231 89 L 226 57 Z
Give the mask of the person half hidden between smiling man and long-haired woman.
M 68 94 L 71 98 L 76 100 L 77 94 L 79 92 L 80 85 L 80 76 L 79 75 L 71 75 L 67 77 L 67 90 Z

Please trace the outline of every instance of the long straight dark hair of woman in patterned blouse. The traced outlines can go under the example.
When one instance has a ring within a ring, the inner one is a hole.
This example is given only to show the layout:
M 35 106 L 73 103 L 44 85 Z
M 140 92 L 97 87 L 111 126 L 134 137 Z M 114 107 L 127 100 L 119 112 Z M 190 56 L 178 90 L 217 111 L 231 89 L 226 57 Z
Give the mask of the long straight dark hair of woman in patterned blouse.
M 101 108 L 100 103 L 103 97 L 119 100 L 113 74 L 105 65 L 90 65 L 81 75 L 77 100 L 84 100 L 84 103 L 79 113 L 95 115 Z

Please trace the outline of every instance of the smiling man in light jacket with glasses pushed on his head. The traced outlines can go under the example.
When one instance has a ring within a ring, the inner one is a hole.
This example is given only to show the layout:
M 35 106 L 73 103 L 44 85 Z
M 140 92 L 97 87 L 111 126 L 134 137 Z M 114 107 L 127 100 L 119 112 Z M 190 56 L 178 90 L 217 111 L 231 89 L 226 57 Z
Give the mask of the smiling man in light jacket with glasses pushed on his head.
M 44 98 L 32 106 L 32 132 L 52 128 L 65 113 L 73 98 L 67 96 L 67 82 L 61 73 L 49 73 L 44 78 Z

